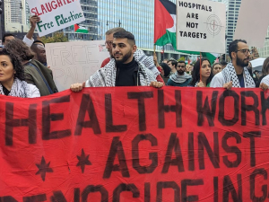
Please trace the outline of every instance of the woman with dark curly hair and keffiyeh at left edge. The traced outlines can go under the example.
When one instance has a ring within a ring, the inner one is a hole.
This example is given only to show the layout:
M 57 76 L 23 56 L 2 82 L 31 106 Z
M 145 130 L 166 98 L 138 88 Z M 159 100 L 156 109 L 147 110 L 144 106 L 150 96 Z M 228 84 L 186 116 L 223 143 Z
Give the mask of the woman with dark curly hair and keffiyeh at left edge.
M 0 51 L 0 93 L 21 98 L 40 97 L 39 89 L 24 81 L 19 58 L 5 48 Z

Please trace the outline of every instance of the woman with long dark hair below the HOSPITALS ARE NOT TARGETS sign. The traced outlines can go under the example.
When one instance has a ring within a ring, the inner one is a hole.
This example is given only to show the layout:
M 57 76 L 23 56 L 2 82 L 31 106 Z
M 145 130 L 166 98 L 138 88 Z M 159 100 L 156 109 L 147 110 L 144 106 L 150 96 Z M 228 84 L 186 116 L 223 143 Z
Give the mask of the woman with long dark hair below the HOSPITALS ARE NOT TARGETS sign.
M 202 67 L 200 68 L 200 59 L 197 60 L 192 73 L 193 79 L 190 82 L 191 86 L 195 87 L 209 87 L 210 82 L 213 78 L 213 71 L 210 65 L 210 61 L 207 58 L 201 59 Z M 201 69 L 201 78 L 200 78 Z M 201 80 L 200 80 L 201 79 Z

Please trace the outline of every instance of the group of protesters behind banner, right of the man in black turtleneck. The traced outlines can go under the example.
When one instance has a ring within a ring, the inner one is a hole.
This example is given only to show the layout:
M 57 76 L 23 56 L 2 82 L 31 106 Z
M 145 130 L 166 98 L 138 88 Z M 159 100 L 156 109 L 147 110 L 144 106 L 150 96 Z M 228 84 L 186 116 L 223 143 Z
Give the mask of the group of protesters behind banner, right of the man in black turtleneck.
M 194 87 L 260 87 L 266 90 L 269 85 L 269 57 L 265 59 L 262 69 L 262 76 L 253 72 L 251 65 L 251 51 L 247 46 L 246 40 L 234 40 L 230 43 L 229 54 L 231 61 L 227 63 L 211 62 L 207 58 L 198 58 L 195 64 L 187 64 L 183 60 L 165 59 L 168 61 L 169 71 L 161 76 L 166 85 L 170 86 L 194 86 Z M 154 56 L 154 63 L 158 64 L 158 59 Z M 163 62 L 164 62 L 163 61 Z M 175 68 L 176 67 L 176 68 Z M 176 70 L 176 72 L 175 72 Z M 191 76 L 188 76 L 191 75 Z M 266 77 L 266 75 L 268 75 Z M 169 79 L 167 80 L 167 77 Z M 167 81 L 167 82 L 166 82 Z

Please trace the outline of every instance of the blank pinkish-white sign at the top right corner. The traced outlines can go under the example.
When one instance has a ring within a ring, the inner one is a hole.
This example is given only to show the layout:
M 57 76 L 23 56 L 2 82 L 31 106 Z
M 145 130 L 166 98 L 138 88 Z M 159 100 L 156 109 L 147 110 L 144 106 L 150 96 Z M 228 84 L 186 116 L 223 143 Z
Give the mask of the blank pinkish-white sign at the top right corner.
M 250 47 L 263 48 L 269 26 L 269 1 L 241 1 L 234 40 L 247 40 Z

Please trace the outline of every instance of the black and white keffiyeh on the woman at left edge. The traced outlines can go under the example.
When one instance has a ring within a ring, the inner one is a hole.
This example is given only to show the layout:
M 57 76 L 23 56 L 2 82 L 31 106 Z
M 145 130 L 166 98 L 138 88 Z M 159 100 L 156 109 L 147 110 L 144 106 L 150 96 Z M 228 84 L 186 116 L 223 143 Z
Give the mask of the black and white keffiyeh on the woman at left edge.
M 0 93 L 4 95 L 3 85 L 0 84 Z M 11 91 L 8 94 L 13 97 L 30 98 L 30 89 L 26 82 L 18 78 L 14 79 Z

